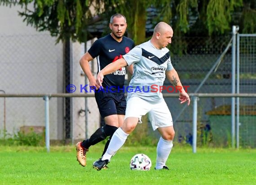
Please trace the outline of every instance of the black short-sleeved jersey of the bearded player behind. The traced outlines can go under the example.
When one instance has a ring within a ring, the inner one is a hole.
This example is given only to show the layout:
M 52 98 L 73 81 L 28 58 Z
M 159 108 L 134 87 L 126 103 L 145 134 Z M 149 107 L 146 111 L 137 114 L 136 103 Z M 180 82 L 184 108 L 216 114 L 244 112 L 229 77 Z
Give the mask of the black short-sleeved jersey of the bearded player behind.
M 92 47 L 88 50 L 88 53 L 95 58 L 97 57 L 98 72 L 111 62 L 115 62 L 117 59 L 128 53 L 134 47 L 134 42 L 123 36 L 121 42 L 117 42 L 110 34 L 96 40 Z M 98 73 L 97 72 L 97 73 Z M 112 90 L 121 91 L 124 86 L 124 77 L 126 74 L 125 67 L 116 70 L 114 73 L 105 75 L 102 86 L 104 88 L 110 88 Z M 120 88 L 117 88 L 117 87 Z

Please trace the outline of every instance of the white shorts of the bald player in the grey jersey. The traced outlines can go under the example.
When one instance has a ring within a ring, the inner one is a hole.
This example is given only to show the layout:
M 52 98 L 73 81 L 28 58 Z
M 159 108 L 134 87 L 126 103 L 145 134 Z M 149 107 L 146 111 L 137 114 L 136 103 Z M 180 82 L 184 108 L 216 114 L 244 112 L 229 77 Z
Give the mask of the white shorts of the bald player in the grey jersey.
M 141 116 L 147 113 L 153 130 L 159 127 L 173 126 L 172 115 L 164 100 L 152 103 L 140 97 L 128 98 L 124 119 L 135 117 L 139 118 L 138 123 L 142 123 Z

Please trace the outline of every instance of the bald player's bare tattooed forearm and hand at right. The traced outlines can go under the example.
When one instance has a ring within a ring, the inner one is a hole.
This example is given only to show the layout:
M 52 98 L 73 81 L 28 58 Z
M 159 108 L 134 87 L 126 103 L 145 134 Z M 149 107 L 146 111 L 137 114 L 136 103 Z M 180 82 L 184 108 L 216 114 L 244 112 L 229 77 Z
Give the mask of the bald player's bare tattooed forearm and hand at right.
M 165 74 L 166 74 L 167 79 L 171 82 L 171 84 L 173 86 L 175 86 L 176 89 L 179 91 L 179 93 L 180 93 L 179 100 L 181 101 L 181 103 L 184 103 L 187 101 L 187 104 L 189 106 L 190 105 L 190 97 L 185 92 L 185 89 L 183 88 L 183 86 L 181 84 L 181 80 L 179 78 L 177 71 L 174 68 L 172 68 L 172 70 L 166 70 Z

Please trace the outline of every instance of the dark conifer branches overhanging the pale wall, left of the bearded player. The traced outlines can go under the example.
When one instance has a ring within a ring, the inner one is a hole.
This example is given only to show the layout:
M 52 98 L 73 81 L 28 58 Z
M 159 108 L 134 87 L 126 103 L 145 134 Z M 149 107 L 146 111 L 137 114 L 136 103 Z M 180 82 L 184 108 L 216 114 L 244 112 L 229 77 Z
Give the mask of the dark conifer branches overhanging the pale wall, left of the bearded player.
M 0 0 L 0 5 L 20 5 L 19 15 L 27 25 L 38 31 L 49 31 L 60 40 L 86 41 L 86 28 L 99 18 L 93 18 L 101 10 L 104 0 Z M 95 14 L 89 9 L 95 7 Z

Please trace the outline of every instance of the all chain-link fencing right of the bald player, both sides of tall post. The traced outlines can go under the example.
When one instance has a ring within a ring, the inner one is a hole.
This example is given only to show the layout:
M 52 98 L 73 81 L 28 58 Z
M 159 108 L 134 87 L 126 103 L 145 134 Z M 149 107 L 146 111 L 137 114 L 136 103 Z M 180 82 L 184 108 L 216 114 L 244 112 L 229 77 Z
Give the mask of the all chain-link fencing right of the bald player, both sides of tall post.
M 239 52 L 235 53 L 238 62 L 240 61 L 240 64 L 236 66 L 236 69 L 240 71 L 240 82 L 236 86 L 240 89 L 240 93 L 255 93 L 256 36 L 240 35 L 240 37 L 240 40 L 237 40 L 240 50 L 238 48 Z M 179 72 L 183 85 L 189 86 L 189 93 L 195 91 L 196 93 L 232 93 L 231 47 L 221 57 L 221 63 L 207 77 L 203 86 L 200 86 L 228 46 L 230 38 L 231 36 L 211 40 L 190 38 L 190 41 L 185 42 L 187 43 L 186 53 L 172 57 L 172 63 Z M 240 58 L 238 54 L 240 54 Z M 239 91 L 236 92 L 239 93 Z M 173 119 L 176 120 L 176 116 L 179 115 L 175 124 L 176 140 L 192 145 L 192 107 L 180 113 L 181 106 L 178 105 L 177 100 L 168 98 L 167 101 Z M 255 98 L 240 98 L 240 105 L 237 103 L 238 110 L 240 110 L 239 122 L 241 123 L 237 131 L 240 130 L 238 137 L 243 147 L 256 146 L 255 103 Z M 198 106 L 198 144 L 231 146 L 231 98 L 200 98 Z

